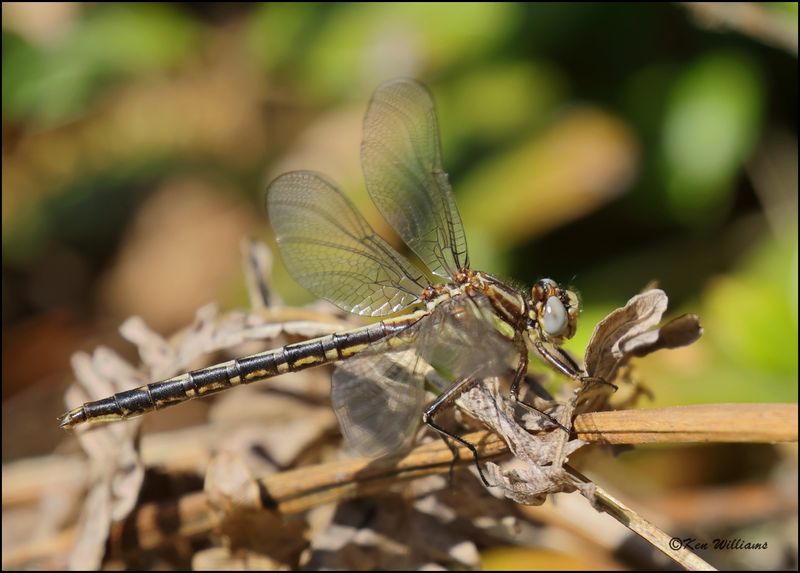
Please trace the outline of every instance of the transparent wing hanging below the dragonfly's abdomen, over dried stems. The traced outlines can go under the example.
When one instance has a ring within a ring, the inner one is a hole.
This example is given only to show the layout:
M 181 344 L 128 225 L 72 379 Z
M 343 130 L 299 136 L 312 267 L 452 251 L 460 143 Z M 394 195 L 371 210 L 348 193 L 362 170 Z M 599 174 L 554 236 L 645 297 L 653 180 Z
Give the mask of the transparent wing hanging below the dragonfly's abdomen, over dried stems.
M 354 357 L 333 373 L 331 402 L 349 449 L 381 457 L 414 438 L 430 367 L 413 349 Z

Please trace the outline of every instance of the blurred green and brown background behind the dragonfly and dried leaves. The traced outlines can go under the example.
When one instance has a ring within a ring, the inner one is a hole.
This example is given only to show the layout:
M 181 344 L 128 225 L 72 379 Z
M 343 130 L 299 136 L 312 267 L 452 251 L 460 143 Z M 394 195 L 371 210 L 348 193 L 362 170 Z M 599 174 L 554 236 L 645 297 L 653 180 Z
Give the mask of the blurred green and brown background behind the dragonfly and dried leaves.
M 643 405 L 796 402 L 796 4 L 4 3 L 4 459 L 52 450 L 70 354 L 131 355 L 126 317 L 247 304 L 279 173 L 386 231 L 358 152 L 399 76 L 436 99 L 473 267 L 574 285 L 573 350 L 655 280 L 705 334 L 640 361 Z

